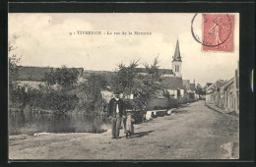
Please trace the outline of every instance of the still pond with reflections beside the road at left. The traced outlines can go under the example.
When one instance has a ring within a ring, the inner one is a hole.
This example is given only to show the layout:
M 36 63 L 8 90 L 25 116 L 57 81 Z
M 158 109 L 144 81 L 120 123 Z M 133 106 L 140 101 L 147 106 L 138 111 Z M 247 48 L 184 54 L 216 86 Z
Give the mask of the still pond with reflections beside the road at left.
M 103 133 L 110 129 L 107 118 L 86 115 L 24 114 L 9 115 L 9 135 L 36 133 Z

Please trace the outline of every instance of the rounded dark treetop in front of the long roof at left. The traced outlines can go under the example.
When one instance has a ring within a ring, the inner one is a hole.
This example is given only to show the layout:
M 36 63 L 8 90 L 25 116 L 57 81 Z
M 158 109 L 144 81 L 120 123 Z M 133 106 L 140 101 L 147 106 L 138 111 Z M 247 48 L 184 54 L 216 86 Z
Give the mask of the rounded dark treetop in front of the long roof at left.
M 74 86 L 78 82 L 79 71 L 75 68 L 68 69 L 66 66 L 57 68 L 44 74 L 44 82 L 48 85 L 59 84 L 63 87 Z

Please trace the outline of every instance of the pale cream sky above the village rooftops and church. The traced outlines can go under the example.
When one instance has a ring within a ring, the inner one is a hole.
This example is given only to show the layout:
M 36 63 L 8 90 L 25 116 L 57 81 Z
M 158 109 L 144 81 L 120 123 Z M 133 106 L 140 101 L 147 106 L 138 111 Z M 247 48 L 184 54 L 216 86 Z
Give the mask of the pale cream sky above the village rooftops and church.
M 231 79 L 239 59 L 239 15 L 234 14 L 233 52 L 202 51 L 202 45 L 191 33 L 194 15 L 12 13 L 8 19 L 8 35 L 16 49 L 10 55 L 22 56 L 22 66 L 66 65 L 96 71 L 114 71 L 117 64 L 128 65 L 134 60 L 139 60 L 139 67 L 143 67 L 159 56 L 160 68 L 171 69 L 178 39 L 183 80 L 204 85 Z M 202 34 L 200 17 L 196 17 L 193 25 L 199 36 Z M 78 31 L 101 31 L 101 34 L 78 34 Z M 129 31 L 132 34 L 128 34 Z M 134 31 L 150 34 L 137 35 Z M 14 34 L 19 36 L 15 43 Z

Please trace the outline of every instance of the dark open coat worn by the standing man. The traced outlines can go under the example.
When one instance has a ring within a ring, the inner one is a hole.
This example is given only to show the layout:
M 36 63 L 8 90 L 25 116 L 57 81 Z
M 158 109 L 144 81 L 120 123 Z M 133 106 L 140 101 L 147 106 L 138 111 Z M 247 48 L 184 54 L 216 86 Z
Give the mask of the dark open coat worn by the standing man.
M 118 101 L 116 101 L 115 98 L 111 98 L 108 104 L 108 116 L 116 117 L 116 106 L 118 104 L 119 108 L 119 116 L 122 117 L 123 115 L 125 116 L 125 106 L 124 106 L 124 101 L 119 98 Z

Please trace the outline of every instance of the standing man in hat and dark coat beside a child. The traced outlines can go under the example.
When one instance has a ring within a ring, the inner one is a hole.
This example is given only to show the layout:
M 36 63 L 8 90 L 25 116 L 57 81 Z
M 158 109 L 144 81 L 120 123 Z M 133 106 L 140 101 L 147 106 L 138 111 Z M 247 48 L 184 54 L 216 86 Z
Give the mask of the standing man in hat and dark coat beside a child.
M 124 110 L 124 101 L 120 98 L 119 93 L 115 93 L 108 104 L 108 116 L 111 120 L 112 139 L 120 139 L 119 131 L 122 117 L 126 116 Z

